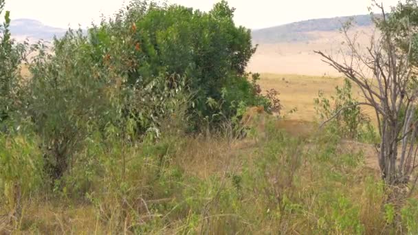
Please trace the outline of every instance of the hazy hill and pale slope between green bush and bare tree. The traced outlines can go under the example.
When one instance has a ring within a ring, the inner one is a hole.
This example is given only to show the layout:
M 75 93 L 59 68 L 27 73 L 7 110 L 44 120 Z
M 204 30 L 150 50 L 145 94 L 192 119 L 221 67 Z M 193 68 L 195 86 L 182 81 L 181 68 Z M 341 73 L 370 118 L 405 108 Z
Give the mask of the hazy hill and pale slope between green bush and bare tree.
M 369 36 L 376 34 L 370 15 L 314 19 L 270 27 L 252 32 L 253 43 L 259 44 L 248 71 L 271 74 L 340 76 L 322 62 L 315 50 L 336 54 L 344 41 L 342 23 L 353 19 L 349 34 L 358 34 L 357 43 L 364 48 Z M 341 58 L 341 57 L 340 57 Z

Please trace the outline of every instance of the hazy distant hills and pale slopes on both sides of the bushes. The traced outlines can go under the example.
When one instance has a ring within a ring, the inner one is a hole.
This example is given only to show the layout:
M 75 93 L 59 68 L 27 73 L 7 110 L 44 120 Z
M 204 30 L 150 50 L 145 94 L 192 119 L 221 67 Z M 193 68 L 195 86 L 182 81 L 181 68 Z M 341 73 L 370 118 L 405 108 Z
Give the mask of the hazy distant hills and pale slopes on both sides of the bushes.
M 314 54 L 314 50 L 331 51 L 340 47 L 343 40 L 339 29 L 343 22 L 353 19 L 353 31 L 368 35 L 373 32 L 369 15 L 343 16 L 330 19 L 312 19 L 252 32 L 254 44 L 259 44 L 248 71 L 273 74 L 305 74 L 313 76 L 338 76 L 333 69 Z M 32 19 L 12 21 L 11 31 L 19 41 L 29 38 L 51 41 L 63 36 L 65 29 L 50 27 Z M 361 43 L 366 43 L 366 37 Z

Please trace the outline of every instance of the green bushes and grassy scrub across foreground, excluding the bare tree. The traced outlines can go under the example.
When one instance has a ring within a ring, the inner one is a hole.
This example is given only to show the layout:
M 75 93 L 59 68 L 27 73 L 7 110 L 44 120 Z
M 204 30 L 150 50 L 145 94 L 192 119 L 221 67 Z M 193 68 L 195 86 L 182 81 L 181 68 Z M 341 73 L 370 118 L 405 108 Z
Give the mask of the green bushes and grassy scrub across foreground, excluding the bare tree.
M 233 14 L 133 1 L 47 48 L 14 42 L 6 12 L 0 232 L 416 234 L 414 191 L 388 197 L 344 142 L 377 141 L 361 109 L 309 136 L 277 128 L 278 92 L 245 72 L 255 48 Z M 355 102 L 346 82 L 318 113 Z M 249 107 L 259 125 L 243 126 Z

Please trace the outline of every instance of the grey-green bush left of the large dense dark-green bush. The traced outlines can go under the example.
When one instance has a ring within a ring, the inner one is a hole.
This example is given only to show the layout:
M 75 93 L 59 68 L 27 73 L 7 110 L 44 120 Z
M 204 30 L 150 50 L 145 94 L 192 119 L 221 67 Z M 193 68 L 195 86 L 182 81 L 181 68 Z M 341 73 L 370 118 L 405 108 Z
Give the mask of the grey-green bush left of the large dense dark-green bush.
M 115 113 L 104 93 L 109 80 L 91 77 L 96 67 L 86 56 L 91 47 L 81 32 L 70 31 L 56 40 L 53 56 L 38 46 L 25 111 L 42 139 L 47 173 L 59 179 L 90 126 Z

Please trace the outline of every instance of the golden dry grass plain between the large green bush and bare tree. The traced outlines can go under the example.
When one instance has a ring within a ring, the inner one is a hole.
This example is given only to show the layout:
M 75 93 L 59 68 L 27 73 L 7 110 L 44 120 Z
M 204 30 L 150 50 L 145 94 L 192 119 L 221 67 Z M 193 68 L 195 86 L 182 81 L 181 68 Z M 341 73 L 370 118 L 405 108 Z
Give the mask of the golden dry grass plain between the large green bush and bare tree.
M 336 87 L 341 87 L 343 82 L 344 78 L 342 77 L 261 74 L 259 84 L 263 90 L 276 89 L 280 91 L 279 98 L 283 104 L 282 113 L 286 118 L 278 122 L 277 127 L 285 130 L 287 133 L 300 136 L 314 133 L 317 128 L 314 125 L 318 121 L 314 99 L 318 97 L 318 92 L 322 91 L 329 98 L 336 94 Z M 353 96 L 358 98 L 358 100 L 364 100 L 360 89 L 355 85 L 353 85 Z M 292 109 L 297 109 L 297 111 L 289 113 Z M 362 109 L 364 113 L 371 117 L 372 122 L 377 125 L 373 108 L 362 107 Z M 364 150 L 366 166 L 379 170 L 373 145 L 350 142 L 349 144 L 342 144 L 342 147 Z

